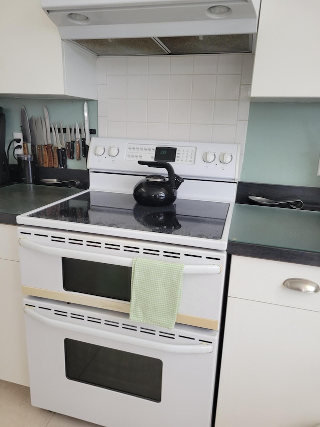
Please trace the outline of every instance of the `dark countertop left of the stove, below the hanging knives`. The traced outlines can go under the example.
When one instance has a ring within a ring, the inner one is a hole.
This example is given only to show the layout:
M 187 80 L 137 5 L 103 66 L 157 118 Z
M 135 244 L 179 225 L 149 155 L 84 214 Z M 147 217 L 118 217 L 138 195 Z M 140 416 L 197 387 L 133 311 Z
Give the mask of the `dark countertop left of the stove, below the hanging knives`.
M 13 184 L 0 188 L 0 223 L 16 224 L 15 217 L 83 191 L 78 188 Z

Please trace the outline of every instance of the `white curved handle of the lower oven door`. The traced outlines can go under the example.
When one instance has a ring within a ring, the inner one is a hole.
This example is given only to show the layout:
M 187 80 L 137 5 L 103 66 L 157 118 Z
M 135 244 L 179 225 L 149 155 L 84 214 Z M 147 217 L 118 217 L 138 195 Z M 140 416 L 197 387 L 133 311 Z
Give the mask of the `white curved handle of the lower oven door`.
M 40 321 L 47 326 L 67 330 L 70 332 L 83 333 L 85 335 L 95 336 L 112 341 L 122 342 L 129 345 L 137 345 L 139 347 L 151 348 L 153 350 L 165 351 L 169 353 L 188 353 L 188 354 L 203 354 L 212 353 L 213 347 L 210 344 L 167 344 L 166 342 L 148 341 L 135 336 L 122 335 L 116 332 L 90 328 L 88 326 L 76 325 L 67 321 L 60 321 L 43 316 L 34 310 L 33 307 L 24 306 L 24 313 L 34 320 Z

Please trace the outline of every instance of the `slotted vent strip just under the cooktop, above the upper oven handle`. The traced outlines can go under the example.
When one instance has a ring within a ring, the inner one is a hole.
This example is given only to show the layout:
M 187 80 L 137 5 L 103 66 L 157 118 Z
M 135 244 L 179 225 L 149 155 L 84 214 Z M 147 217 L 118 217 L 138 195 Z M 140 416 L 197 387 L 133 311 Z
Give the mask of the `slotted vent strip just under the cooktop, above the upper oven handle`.
M 203 253 L 203 250 L 197 250 L 192 248 L 187 248 L 183 246 L 176 247 L 177 250 L 167 250 L 167 245 L 162 244 L 156 244 L 156 243 L 149 243 L 148 246 L 142 246 L 145 245 L 146 242 L 141 242 L 141 246 L 139 245 L 128 245 L 125 244 L 125 242 L 118 243 L 117 241 L 114 241 L 112 238 L 106 238 L 106 239 L 98 239 L 94 238 L 92 239 L 81 239 L 78 238 L 73 234 L 75 237 L 64 237 L 59 236 L 56 232 L 52 235 L 48 234 L 40 234 L 37 233 L 28 233 L 28 232 L 20 232 L 20 234 L 30 234 L 37 237 L 37 239 L 41 240 L 42 244 L 45 244 L 44 240 L 49 240 L 51 242 L 54 242 L 56 246 L 59 244 L 63 244 L 63 247 L 65 245 L 76 245 L 81 246 L 85 250 L 86 247 L 96 248 L 96 253 L 106 253 L 108 251 L 118 251 L 124 253 L 134 253 L 134 254 L 140 254 L 140 255 L 147 255 L 150 257 L 160 257 L 163 258 L 173 258 L 173 259 L 182 259 L 183 257 L 188 258 L 196 258 L 196 259 L 203 259 L 203 260 L 214 260 L 214 261 L 221 261 L 219 257 L 209 256 L 209 249 L 207 250 L 206 254 Z M 113 240 L 113 241 L 112 241 Z M 135 242 L 134 242 L 135 243 Z M 161 248 L 161 245 L 163 246 L 163 249 Z M 153 246 L 153 247 L 152 247 Z M 160 247 L 160 249 L 159 249 Z M 79 248 L 80 250 L 80 248 Z M 208 255 L 208 256 L 206 256 Z

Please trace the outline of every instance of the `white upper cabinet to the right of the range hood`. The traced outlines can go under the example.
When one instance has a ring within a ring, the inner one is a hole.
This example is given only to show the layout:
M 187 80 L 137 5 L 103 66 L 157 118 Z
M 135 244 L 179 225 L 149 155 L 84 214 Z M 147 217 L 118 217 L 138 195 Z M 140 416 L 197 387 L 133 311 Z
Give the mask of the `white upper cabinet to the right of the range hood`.
M 320 102 L 319 0 L 262 0 L 251 101 Z

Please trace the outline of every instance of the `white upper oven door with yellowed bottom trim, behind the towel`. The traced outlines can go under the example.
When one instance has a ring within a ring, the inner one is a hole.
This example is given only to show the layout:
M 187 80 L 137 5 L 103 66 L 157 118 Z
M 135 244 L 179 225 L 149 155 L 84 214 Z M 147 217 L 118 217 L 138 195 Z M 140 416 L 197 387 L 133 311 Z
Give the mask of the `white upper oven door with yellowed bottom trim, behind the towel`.
M 182 263 L 177 322 L 219 328 L 224 252 L 23 226 L 19 255 L 23 293 L 126 313 L 134 257 Z

